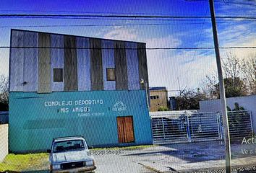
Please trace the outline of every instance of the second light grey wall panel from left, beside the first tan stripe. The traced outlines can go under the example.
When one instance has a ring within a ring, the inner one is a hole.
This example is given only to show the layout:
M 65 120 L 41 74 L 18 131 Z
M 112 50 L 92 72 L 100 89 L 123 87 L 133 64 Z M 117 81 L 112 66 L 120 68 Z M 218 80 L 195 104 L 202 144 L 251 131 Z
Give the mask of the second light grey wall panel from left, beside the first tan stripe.
M 38 33 L 24 32 L 24 46 L 38 47 Z M 24 49 L 23 92 L 38 91 L 38 48 Z

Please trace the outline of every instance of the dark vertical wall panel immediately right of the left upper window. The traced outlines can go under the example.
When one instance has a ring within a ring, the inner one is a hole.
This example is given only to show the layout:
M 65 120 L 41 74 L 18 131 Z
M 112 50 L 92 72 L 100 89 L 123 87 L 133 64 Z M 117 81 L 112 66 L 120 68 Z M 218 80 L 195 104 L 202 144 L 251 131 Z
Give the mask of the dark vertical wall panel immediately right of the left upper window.
M 64 35 L 64 90 L 77 91 L 76 37 Z

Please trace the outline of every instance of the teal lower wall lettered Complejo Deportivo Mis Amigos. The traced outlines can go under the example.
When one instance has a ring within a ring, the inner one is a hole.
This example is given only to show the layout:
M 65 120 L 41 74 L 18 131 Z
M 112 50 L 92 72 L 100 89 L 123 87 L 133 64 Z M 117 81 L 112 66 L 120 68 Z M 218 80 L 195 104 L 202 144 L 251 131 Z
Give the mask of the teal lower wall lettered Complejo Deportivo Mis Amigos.
M 124 105 L 116 104 L 119 101 Z M 45 151 L 53 138 L 77 135 L 84 136 L 89 146 L 122 146 L 116 117 L 131 115 L 135 143 L 128 144 L 152 143 L 145 90 L 11 92 L 9 150 Z

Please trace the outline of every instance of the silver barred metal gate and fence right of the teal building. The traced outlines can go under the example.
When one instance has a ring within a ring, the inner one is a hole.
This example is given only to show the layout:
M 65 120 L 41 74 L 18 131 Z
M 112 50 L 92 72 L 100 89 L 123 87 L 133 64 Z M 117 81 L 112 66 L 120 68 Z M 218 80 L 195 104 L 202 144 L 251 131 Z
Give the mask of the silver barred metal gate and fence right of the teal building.
M 228 115 L 231 139 L 252 135 L 252 119 L 248 111 L 232 111 Z M 150 117 L 155 144 L 224 138 L 222 117 L 219 112 L 150 112 Z

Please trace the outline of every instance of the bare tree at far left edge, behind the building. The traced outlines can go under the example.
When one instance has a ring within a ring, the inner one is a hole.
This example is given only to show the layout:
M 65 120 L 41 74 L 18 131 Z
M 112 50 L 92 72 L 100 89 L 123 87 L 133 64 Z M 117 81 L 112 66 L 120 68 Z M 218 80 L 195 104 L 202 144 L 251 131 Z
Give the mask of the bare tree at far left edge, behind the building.
M 7 76 L 0 75 L 0 110 L 8 110 L 9 105 L 9 80 Z

